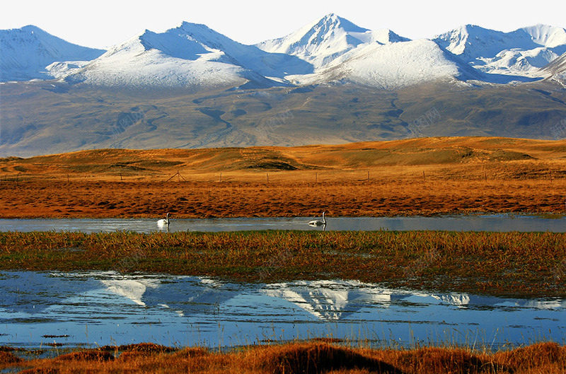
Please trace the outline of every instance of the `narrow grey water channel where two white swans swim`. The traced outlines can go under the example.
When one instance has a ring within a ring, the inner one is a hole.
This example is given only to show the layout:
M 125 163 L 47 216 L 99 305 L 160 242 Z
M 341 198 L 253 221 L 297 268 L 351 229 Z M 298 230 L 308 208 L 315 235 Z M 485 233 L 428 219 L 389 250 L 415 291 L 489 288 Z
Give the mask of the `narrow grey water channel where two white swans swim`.
M 434 217 L 328 217 L 325 227 L 313 228 L 299 218 L 214 218 L 172 219 L 174 231 L 241 230 L 453 230 L 453 231 L 551 231 L 566 232 L 566 217 L 512 215 L 466 215 Z M 160 230 L 156 219 L 0 219 L 0 231 L 100 231 L 131 230 L 151 233 Z

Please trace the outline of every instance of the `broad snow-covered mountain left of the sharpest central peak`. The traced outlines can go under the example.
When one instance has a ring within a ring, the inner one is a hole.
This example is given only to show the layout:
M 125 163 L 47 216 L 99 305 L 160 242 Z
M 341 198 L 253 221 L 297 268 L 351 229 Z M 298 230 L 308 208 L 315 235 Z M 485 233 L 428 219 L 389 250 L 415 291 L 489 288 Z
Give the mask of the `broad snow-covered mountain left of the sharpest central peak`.
M 130 87 L 239 86 L 253 81 L 272 86 L 284 82 L 285 73 L 278 66 L 291 72 L 312 71 L 296 57 L 268 54 L 206 25 L 184 22 L 165 33 L 146 30 L 110 48 L 83 69 L 71 69 L 67 81 Z

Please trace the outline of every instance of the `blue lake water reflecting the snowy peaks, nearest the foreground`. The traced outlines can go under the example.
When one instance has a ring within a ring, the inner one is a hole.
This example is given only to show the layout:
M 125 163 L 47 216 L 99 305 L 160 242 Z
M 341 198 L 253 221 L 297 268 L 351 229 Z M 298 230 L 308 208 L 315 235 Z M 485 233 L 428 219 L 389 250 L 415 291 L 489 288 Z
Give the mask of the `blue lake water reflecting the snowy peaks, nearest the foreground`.
M 357 281 L 0 271 L 0 345 L 239 346 L 314 337 L 373 346 L 566 341 L 566 300 L 422 293 Z

